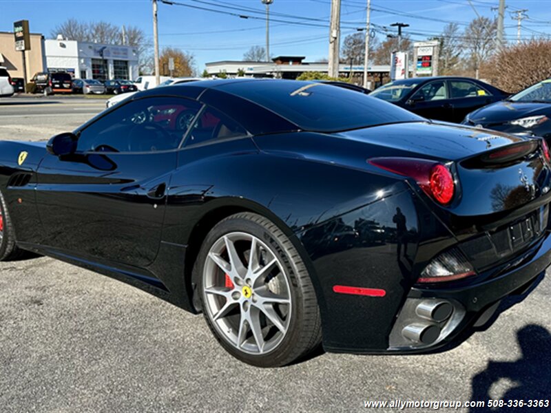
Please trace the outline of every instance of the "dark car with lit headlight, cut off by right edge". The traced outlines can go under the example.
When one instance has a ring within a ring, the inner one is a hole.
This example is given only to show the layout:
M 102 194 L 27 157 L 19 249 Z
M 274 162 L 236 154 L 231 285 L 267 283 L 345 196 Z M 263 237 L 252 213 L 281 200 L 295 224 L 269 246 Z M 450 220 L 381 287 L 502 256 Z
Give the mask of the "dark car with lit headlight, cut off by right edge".
M 508 134 L 541 136 L 551 142 L 551 79 L 475 110 L 463 123 Z

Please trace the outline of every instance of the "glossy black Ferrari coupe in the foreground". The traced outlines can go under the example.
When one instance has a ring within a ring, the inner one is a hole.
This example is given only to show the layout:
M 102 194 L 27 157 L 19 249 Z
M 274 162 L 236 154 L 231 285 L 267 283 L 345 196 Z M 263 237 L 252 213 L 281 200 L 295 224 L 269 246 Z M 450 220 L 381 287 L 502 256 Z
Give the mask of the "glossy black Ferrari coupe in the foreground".
M 0 257 L 144 286 L 256 366 L 430 352 L 550 264 L 550 184 L 542 140 L 320 83 L 187 83 L 0 142 Z

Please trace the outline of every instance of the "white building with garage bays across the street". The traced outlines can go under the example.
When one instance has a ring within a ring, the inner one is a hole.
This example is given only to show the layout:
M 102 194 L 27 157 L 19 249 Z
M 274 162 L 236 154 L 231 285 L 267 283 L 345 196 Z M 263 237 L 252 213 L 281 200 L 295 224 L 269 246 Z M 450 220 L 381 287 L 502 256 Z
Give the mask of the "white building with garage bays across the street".
M 99 80 L 134 80 L 138 77 L 136 47 L 62 39 L 44 43 L 50 72 L 68 72 L 74 78 Z

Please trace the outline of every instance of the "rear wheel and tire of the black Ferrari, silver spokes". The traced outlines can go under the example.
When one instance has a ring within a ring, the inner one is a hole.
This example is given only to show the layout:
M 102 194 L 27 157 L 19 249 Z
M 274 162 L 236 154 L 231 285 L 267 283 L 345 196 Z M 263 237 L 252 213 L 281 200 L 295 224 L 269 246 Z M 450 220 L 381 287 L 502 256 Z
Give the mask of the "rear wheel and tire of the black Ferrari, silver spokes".
M 310 275 L 289 238 L 262 215 L 237 213 L 216 224 L 194 277 L 207 325 L 233 357 L 278 367 L 318 347 L 320 311 Z

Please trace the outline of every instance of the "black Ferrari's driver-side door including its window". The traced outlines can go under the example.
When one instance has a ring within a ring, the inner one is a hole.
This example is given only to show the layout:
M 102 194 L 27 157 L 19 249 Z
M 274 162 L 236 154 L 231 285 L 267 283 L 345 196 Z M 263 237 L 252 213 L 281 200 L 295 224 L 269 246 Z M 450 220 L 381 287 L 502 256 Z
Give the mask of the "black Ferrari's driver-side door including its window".
M 90 260 L 152 263 L 189 126 L 182 114 L 199 108 L 185 98 L 134 100 L 81 129 L 74 155 L 45 156 L 37 184 L 42 244 Z

